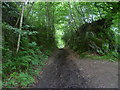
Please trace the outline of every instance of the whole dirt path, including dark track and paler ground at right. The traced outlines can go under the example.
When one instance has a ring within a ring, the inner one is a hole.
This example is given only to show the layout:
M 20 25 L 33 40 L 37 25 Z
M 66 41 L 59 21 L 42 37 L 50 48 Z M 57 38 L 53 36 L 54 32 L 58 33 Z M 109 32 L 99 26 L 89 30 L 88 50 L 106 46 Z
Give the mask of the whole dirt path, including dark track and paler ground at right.
M 118 88 L 117 62 L 78 59 L 59 49 L 43 68 L 36 88 Z

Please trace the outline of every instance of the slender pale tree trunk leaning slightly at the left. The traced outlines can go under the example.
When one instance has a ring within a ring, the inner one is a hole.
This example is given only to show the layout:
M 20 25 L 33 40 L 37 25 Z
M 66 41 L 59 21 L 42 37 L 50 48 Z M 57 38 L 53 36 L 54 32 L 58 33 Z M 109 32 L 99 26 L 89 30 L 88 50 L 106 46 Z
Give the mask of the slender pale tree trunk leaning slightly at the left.
M 23 3 L 23 6 L 22 6 L 22 12 L 21 12 L 21 18 L 20 18 L 20 30 L 22 29 L 22 23 L 23 23 L 23 14 L 24 14 L 24 3 Z M 18 42 L 17 42 L 17 50 L 16 50 L 16 54 L 18 53 L 19 51 L 19 48 L 20 48 L 20 39 L 21 39 L 21 35 L 19 33 L 18 35 Z

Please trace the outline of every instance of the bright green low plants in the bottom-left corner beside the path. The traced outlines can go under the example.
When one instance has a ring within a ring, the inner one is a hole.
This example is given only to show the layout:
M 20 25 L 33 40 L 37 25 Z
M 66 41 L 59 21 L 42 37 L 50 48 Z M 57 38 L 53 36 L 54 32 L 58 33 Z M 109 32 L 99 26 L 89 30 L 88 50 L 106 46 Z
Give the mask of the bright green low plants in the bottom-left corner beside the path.
M 10 77 L 6 79 L 4 83 L 4 87 L 11 88 L 11 87 L 26 87 L 27 85 L 34 82 L 34 78 L 28 73 L 17 73 L 13 72 L 10 74 Z

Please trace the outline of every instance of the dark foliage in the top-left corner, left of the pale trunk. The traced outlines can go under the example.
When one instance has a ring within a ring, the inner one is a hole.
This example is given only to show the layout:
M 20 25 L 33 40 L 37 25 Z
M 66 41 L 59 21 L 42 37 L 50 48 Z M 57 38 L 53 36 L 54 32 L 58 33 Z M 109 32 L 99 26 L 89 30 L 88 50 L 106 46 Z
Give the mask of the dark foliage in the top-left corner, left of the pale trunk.
M 2 2 L 2 21 L 14 26 L 20 14 L 20 7 L 21 3 Z

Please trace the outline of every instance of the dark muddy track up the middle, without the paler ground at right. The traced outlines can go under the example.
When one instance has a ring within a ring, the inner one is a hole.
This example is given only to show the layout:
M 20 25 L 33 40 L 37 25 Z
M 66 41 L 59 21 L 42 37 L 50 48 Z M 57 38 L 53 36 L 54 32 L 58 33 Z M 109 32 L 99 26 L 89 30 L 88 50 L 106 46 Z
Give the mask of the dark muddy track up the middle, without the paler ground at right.
M 81 76 L 76 64 L 68 59 L 69 52 L 59 49 L 51 64 L 43 70 L 37 88 L 86 88 L 86 80 Z

